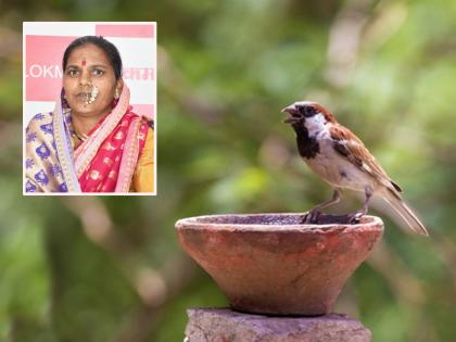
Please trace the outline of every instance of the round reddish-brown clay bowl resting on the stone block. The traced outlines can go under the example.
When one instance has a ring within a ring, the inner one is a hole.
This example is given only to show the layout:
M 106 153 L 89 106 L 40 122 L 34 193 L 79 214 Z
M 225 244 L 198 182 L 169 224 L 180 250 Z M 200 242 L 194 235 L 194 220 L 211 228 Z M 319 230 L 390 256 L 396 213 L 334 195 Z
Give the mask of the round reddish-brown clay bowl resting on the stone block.
M 212 215 L 176 223 L 183 250 L 233 309 L 268 315 L 329 314 L 345 281 L 383 233 L 379 217 L 301 225 L 301 214 Z

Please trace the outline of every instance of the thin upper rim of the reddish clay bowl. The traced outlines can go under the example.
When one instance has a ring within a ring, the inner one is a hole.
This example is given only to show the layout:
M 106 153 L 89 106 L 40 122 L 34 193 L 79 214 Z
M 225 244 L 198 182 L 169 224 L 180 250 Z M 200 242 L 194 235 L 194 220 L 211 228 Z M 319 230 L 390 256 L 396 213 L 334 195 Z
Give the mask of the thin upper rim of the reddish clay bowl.
M 383 231 L 384 224 L 378 216 L 365 215 L 363 218 L 368 221 L 359 224 L 326 224 L 326 225 L 280 225 L 280 224 L 238 224 L 238 223 L 211 223 L 200 221 L 202 219 L 211 219 L 215 217 L 233 216 L 233 217 L 248 217 L 248 216 L 302 216 L 305 213 L 255 213 L 255 214 L 213 214 L 200 215 L 192 217 L 185 217 L 176 221 L 175 227 L 177 230 L 181 229 L 198 229 L 198 230 L 237 230 L 237 231 L 333 231 L 333 230 L 376 230 Z

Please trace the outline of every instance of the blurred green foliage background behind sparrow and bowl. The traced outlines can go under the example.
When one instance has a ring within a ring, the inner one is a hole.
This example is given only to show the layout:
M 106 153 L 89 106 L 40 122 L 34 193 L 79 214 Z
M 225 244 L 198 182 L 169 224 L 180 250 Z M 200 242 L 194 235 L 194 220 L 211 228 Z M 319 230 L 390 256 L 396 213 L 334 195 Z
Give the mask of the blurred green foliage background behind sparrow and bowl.
M 159 23 L 159 195 L 24 198 L 22 22 Z M 0 341 L 182 341 L 225 306 L 178 218 L 303 212 L 331 194 L 280 109 L 352 128 L 431 230 L 384 218 L 335 307 L 373 341 L 456 341 L 456 1 L 0 1 Z M 345 192 L 335 211 L 358 208 Z M 378 208 L 381 208 L 378 206 Z

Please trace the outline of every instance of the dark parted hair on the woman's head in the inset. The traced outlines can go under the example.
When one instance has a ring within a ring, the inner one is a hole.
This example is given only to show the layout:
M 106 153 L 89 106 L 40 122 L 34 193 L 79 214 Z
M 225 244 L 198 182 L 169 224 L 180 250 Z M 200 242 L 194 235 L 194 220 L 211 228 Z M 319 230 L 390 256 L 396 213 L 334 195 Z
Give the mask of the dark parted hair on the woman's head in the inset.
M 66 68 L 66 64 L 68 63 L 69 54 L 73 52 L 74 49 L 79 48 L 85 45 L 94 45 L 99 47 L 101 50 L 104 51 L 107 59 L 111 62 L 111 66 L 114 69 L 115 79 L 122 77 L 122 59 L 121 53 L 118 53 L 117 48 L 111 42 L 104 39 L 101 36 L 84 36 L 79 37 L 72 41 L 72 43 L 66 48 L 65 53 L 63 54 L 62 66 L 63 71 Z

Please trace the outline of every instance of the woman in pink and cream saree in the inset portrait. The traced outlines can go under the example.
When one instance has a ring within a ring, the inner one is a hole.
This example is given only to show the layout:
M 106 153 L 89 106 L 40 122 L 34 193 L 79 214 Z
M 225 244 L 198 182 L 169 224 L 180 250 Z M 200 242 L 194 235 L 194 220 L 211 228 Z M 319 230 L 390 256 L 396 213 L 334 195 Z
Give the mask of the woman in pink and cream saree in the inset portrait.
M 54 111 L 26 129 L 26 192 L 153 192 L 153 125 L 131 112 L 116 47 L 85 36 L 62 64 Z

